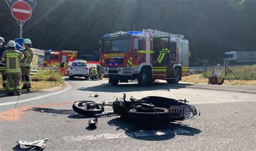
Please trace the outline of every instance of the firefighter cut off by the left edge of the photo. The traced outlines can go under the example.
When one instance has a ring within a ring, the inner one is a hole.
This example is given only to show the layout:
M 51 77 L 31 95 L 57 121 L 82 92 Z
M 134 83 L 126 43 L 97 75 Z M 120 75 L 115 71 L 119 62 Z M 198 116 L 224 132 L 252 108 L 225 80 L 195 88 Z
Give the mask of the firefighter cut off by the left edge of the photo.
M 4 38 L 0 37 L 0 72 L 2 74 L 2 83 L 4 90 L 7 89 L 7 77 L 5 74 L 5 63 L 2 61 L 2 54 L 7 50 L 7 46 L 4 45 Z

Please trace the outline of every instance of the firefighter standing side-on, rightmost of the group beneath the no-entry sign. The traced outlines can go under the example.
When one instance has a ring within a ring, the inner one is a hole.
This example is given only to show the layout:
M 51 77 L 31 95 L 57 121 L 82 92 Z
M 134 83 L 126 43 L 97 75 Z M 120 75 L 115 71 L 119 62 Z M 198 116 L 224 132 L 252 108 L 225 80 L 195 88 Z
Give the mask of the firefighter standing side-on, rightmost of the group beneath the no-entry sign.
M 25 47 L 23 54 L 24 59 L 21 61 L 21 71 L 22 71 L 22 89 L 30 91 L 31 88 L 31 77 L 30 77 L 30 68 L 33 60 L 33 49 L 30 39 L 24 39 L 23 46 Z

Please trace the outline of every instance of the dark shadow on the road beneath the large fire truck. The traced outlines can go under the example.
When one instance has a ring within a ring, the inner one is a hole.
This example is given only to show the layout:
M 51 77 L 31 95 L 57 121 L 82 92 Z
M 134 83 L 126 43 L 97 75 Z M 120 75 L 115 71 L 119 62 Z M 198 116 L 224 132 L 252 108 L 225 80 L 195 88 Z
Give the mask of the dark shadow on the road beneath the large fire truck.
M 111 84 L 101 84 L 92 87 L 80 87 L 77 90 L 80 91 L 91 91 L 91 92 L 133 92 L 133 91 L 170 91 L 170 89 L 179 89 L 186 88 L 191 84 L 173 84 L 167 85 L 165 83 L 154 83 L 150 86 L 138 86 L 138 84 L 130 83 L 130 84 L 119 84 L 117 86 L 112 86 Z

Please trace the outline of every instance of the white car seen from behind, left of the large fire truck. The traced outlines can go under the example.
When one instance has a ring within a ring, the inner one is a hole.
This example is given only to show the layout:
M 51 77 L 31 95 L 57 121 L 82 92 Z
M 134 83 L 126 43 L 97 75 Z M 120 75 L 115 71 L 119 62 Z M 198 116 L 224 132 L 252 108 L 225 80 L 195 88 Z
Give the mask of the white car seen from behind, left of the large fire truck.
M 75 60 L 69 67 L 69 79 L 75 77 L 89 78 L 90 71 L 84 60 Z

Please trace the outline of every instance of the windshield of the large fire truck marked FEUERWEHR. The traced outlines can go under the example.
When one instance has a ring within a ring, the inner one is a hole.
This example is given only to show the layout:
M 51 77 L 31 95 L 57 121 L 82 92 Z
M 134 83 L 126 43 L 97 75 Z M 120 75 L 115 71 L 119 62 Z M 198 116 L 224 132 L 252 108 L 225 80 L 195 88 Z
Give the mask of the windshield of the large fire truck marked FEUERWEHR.
M 128 52 L 131 46 L 131 39 L 104 40 L 103 52 Z

